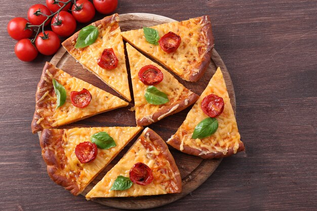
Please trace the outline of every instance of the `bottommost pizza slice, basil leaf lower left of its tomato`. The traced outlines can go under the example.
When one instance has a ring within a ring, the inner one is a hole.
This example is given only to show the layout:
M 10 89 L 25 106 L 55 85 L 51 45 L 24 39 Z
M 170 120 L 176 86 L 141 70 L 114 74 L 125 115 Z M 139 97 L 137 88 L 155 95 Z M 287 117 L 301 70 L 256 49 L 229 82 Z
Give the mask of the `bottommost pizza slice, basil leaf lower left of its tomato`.
M 180 193 L 181 183 L 178 167 L 166 143 L 146 128 L 86 198 Z

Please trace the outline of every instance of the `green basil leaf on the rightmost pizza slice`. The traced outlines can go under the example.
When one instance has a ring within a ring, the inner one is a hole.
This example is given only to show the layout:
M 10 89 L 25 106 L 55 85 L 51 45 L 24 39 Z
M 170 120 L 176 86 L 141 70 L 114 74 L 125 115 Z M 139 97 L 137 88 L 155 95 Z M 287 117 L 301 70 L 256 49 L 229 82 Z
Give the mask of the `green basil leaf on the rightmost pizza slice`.
M 218 120 L 208 117 L 199 122 L 191 136 L 192 139 L 203 139 L 214 134 L 218 129 Z

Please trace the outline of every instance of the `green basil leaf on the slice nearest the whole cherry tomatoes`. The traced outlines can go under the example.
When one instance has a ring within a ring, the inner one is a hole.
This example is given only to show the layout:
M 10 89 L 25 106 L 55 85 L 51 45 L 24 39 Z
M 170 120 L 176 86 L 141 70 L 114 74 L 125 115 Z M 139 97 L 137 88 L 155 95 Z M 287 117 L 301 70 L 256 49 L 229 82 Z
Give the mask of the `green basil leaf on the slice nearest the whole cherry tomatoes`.
M 96 26 L 90 25 L 82 28 L 78 34 L 75 49 L 85 48 L 95 43 L 96 39 L 98 38 L 98 34 L 99 31 Z

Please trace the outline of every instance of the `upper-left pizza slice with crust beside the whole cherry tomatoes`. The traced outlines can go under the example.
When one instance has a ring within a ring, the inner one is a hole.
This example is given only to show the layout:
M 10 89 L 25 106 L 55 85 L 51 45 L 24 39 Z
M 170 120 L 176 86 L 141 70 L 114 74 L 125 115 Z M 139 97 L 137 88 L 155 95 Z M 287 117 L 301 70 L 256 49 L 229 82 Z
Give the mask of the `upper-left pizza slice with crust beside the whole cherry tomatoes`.
M 118 14 L 107 16 L 76 32 L 62 45 L 84 68 L 131 101 L 125 49 L 118 20 Z M 96 40 L 91 45 L 83 45 L 87 39 L 93 40 L 89 38 L 94 36 Z M 86 40 L 82 41 L 84 38 Z

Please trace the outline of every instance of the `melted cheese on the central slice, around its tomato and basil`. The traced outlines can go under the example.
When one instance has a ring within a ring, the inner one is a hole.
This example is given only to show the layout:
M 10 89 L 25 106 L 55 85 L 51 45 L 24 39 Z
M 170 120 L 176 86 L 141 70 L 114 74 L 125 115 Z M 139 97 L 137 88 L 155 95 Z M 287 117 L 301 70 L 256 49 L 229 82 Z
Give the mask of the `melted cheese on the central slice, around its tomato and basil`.
M 171 73 L 166 71 L 160 65 L 152 62 L 150 59 L 143 56 L 140 52 L 138 52 L 128 43 L 127 52 L 130 63 L 136 119 L 147 118 L 150 121 L 154 122 L 154 120 L 152 119 L 152 115 L 155 112 L 160 111 L 166 106 L 170 106 L 177 101 L 188 98 L 192 94 L 192 92 L 190 92 L 180 82 L 178 82 L 178 80 L 174 78 Z M 158 85 L 155 85 L 155 87 L 161 92 L 167 94 L 169 102 L 167 102 L 164 105 L 149 104 L 144 97 L 145 91 L 148 86 L 144 85 L 144 83 L 139 79 L 138 73 L 139 70 L 146 65 L 154 65 L 157 68 L 159 68 L 163 73 L 163 80 Z M 179 104 L 176 104 L 174 108 L 177 109 L 178 106 Z M 160 119 L 164 118 L 169 113 L 171 113 L 171 110 L 166 115 L 163 114 L 162 116 L 160 116 Z

